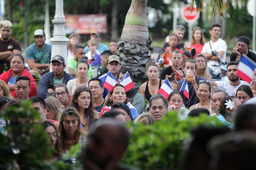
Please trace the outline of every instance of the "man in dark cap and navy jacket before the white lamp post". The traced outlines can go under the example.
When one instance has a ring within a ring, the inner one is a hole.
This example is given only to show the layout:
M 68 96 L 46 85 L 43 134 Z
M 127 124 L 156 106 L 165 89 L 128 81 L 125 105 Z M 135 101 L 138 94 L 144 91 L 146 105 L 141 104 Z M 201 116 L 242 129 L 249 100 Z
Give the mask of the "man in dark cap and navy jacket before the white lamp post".
M 44 99 L 53 94 L 56 84 L 67 85 L 69 80 L 74 79 L 73 76 L 66 73 L 64 69 L 66 68 L 65 60 L 60 55 L 55 55 L 52 58 L 52 72 L 48 72 L 42 76 L 38 85 L 38 94 Z

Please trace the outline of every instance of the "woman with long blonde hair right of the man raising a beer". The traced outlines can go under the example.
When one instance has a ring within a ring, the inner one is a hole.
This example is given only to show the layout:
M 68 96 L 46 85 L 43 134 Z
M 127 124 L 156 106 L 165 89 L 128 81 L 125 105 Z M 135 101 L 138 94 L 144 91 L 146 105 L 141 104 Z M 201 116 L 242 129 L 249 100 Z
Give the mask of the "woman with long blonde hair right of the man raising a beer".
M 207 66 L 206 57 L 203 54 L 196 55 L 196 66 L 196 76 L 206 78 L 209 81 L 212 80 L 212 76 L 209 73 L 209 68 Z

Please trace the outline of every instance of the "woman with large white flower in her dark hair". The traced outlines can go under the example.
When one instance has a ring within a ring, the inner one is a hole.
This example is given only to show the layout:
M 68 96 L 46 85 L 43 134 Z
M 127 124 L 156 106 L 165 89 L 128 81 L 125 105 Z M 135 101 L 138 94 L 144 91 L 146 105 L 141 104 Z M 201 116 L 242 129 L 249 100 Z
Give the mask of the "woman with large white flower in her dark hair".
M 240 106 L 242 106 L 242 104 L 236 96 L 228 95 L 221 100 L 218 107 L 218 112 L 220 115 L 216 116 L 216 118 L 230 128 L 232 120 L 231 115 Z

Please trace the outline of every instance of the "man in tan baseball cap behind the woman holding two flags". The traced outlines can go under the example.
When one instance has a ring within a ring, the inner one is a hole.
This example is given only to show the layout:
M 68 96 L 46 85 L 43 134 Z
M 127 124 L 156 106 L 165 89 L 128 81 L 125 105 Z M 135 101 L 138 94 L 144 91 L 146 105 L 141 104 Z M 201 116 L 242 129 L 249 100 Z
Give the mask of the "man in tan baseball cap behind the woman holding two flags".
M 117 55 L 110 55 L 108 57 L 107 69 L 108 69 L 108 72 L 99 77 L 103 85 L 106 81 L 109 71 L 113 74 L 113 76 L 116 78 L 116 81 L 117 81 L 117 74 L 118 74 L 118 71 L 121 69 L 121 62 Z M 107 95 L 108 95 L 108 89 L 105 88 L 104 92 L 102 93 L 102 97 L 105 99 Z

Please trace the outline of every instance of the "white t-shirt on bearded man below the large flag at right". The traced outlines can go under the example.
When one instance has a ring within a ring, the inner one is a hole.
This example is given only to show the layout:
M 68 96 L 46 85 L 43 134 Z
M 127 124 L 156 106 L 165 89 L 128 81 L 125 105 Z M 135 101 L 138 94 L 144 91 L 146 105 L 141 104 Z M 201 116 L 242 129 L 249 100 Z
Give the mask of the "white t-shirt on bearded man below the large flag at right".
M 233 86 L 230 85 L 229 80 L 227 81 L 215 81 L 215 83 L 217 84 L 217 89 L 224 89 L 226 90 L 226 92 L 228 93 L 228 95 L 233 95 L 236 96 L 236 91 L 238 89 L 238 87 L 240 87 L 241 85 L 249 85 L 249 83 L 247 83 L 246 81 L 240 80 L 240 84 L 238 86 Z

